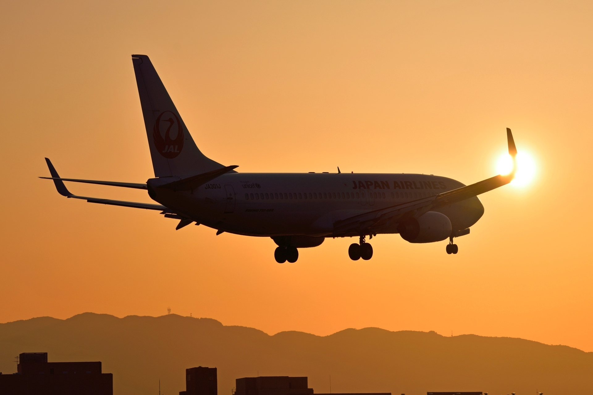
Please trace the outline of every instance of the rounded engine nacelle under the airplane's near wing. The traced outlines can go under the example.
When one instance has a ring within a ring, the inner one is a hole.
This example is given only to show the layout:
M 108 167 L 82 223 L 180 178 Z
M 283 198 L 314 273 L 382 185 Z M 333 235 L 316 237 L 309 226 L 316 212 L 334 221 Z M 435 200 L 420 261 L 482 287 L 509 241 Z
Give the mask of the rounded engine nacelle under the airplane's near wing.
M 409 218 L 397 226 L 402 239 L 410 243 L 440 242 L 451 236 L 451 221 L 445 214 L 428 211 L 418 219 Z

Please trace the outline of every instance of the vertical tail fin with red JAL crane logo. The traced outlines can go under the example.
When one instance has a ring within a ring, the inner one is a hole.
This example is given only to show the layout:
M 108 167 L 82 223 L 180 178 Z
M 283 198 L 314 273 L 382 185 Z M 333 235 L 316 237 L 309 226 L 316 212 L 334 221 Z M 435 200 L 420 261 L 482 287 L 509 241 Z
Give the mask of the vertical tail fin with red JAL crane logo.
M 132 55 L 156 177 L 192 176 L 223 168 L 200 152 L 146 55 Z

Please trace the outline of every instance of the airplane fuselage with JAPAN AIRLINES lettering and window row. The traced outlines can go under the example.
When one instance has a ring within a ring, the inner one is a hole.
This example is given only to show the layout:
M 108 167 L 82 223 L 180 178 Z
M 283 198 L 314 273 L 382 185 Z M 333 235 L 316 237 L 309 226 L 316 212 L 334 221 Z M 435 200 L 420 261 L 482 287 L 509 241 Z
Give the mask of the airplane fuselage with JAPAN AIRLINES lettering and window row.
M 151 197 L 197 223 L 248 236 L 331 237 L 337 220 L 464 186 L 424 174 L 231 173 L 193 191 L 158 188 L 175 179 L 149 179 Z M 435 211 L 457 231 L 476 223 L 484 208 L 472 197 Z M 396 228 L 388 224 L 375 233 Z

